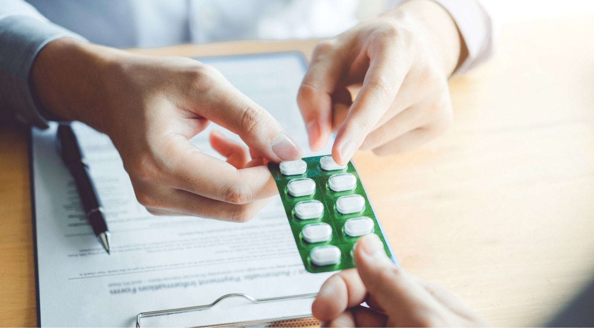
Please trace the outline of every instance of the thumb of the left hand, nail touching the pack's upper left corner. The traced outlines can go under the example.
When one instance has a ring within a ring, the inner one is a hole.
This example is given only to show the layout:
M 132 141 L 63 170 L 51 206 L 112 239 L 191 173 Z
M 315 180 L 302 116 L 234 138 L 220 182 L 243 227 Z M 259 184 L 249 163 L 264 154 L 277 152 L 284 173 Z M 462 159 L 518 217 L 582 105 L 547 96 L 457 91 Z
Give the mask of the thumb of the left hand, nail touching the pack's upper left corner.
M 301 158 L 301 148 L 266 109 L 222 75 L 208 99 L 208 119 L 238 134 L 252 152 L 273 162 Z

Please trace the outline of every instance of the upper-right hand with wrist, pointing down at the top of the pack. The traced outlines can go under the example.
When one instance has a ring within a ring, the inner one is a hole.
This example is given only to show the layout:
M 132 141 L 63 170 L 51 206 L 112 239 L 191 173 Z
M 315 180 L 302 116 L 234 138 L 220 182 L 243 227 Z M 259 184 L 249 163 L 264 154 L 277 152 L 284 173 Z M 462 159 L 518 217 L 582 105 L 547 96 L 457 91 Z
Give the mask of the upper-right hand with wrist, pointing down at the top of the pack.
M 447 78 L 460 57 L 456 24 L 427 0 L 320 43 L 297 98 L 311 148 L 336 133 L 332 156 L 345 165 L 359 148 L 393 154 L 440 134 L 453 118 Z M 347 89 L 357 87 L 352 102 Z

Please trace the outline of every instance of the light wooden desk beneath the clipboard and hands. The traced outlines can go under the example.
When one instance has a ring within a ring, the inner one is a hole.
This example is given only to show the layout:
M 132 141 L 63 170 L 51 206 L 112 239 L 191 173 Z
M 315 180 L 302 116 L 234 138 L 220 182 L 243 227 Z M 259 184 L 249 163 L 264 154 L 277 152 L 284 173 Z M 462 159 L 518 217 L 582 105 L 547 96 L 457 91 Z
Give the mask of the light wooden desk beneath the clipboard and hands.
M 403 267 L 495 326 L 540 326 L 594 276 L 594 17 L 514 23 L 498 55 L 451 81 L 453 127 L 422 149 L 359 152 Z M 589 39 L 587 39 L 589 38 Z M 138 51 L 219 55 L 315 42 Z M 34 326 L 26 130 L 0 128 L 0 326 Z

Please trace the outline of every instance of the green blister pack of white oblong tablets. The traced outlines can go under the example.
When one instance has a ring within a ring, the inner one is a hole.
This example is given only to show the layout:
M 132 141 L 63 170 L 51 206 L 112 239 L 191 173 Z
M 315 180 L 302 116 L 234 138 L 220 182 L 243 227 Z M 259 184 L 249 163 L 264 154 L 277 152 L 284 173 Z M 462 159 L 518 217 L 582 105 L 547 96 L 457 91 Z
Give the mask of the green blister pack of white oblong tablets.
M 305 269 L 311 273 L 355 267 L 359 236 L 376 234 L 393 254 L 355 166 L 332 156 L 268 163 Z

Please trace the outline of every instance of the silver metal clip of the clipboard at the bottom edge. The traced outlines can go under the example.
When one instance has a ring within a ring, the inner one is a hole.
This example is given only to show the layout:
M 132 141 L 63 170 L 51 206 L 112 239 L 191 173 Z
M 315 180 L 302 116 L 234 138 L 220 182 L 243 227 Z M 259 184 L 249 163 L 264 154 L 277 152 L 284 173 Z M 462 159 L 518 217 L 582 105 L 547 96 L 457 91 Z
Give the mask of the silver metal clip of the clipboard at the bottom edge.
M 223 299 L 228 298 L 244 298 L 252 303 L 267 303 L 267 302 L 277 302 L 277 301 L 287 301 L 289 299 L 300 299 L 300 298 L 313 298 L 317 293 L 312 294 L 301 294 L 301 295 L 289 295 L 289 296 L 280 296 L 280 297 L 270 297 L 270 298 L 254 298 L 247 294 L 241 293 L 233 293 L 223 295 L 222 297 L 217 298 L 214 302 L 205 305 L 198 305 L 196 307 L 185 307 L 185 308 L 173 308 L 171 310 L 159 310 L 159 311 L 149 311 L 149 312 L 142 312 L 138 313 L 136 316 L 136 327 L 140 328 L 140 320 L 141 318 L 146 317 L 154 317 L 154 316 L 164 316 L 166 314 L 178 314 L 178 313 L 185 313 L 185 312 L 192 312 L 192 311 L 201 311 L 201 310 L 208 310 L 209 308 L 214 307 Z M 266 319 L 258 319 L 258 320 L 247 320 L 247 321 L 238 321 L 238 322 L 230 322 L 230 323 L 220 323 L 220 324 L 209 324 L 207 326 L 196 326 L 196 327 L 308 327 L 308 326 L 318 326 L 320 321 L 316 320 L 311 314 L 303 314 L 301 316 L 291 316 L 291 317 L 276 317 L 276 318 L 266 318 Z

